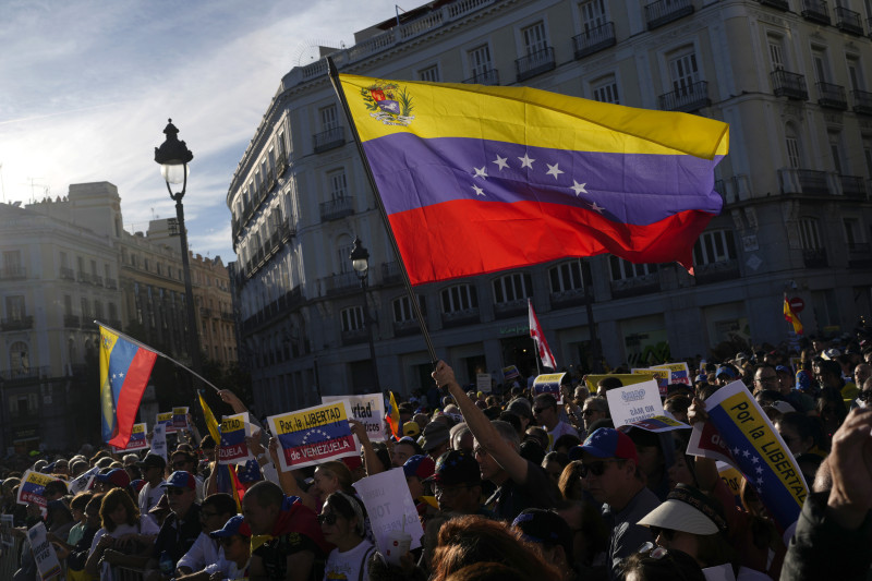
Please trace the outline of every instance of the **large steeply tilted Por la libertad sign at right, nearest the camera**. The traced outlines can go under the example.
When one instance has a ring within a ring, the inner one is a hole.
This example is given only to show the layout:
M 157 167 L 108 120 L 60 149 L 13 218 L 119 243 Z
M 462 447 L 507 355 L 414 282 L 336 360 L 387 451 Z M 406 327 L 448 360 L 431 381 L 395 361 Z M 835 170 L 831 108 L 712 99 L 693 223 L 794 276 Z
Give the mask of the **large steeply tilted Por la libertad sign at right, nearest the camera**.
M 754 487 L 782 530 L 799 518 L 808 496 L 806 479 L 768 416 L 741 382 L 722 387 L 705 400 L 717 438 L 694 424 L 688 453 L 723 460 Z

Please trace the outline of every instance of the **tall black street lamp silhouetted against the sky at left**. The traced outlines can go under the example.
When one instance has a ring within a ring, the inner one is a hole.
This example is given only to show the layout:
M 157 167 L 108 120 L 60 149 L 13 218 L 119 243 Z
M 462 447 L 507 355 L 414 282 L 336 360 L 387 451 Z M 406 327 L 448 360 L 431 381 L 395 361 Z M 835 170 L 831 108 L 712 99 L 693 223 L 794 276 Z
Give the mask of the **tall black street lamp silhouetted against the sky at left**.
M 182 198 L 187 189 L 189 161 L 194 159 L 194 154 L 187 149 L 184 142 L 179 141 L 179 130 L 169 120 L 164 128 L 166 141 L 160 147 L 155 147 L 155 161 L 160 164 L 160 174 L 167 182 L 167 191 L 175 202 L 175 219 L 179 221 L 179 242 L 182 249 L 182 273 L 184 274 L 184 300 L 187 311 L 187 349 L 191 352 L 191 367 L 199 373 L 199 337 L 197 335 L 196 308 L 194 304 L 194 289 L 191 287 L 191 264 L 187 258 L 187 231 L 184 228 L 184 206 Z M 172 193 L 171 184 L 182 184 L 182 191 Z

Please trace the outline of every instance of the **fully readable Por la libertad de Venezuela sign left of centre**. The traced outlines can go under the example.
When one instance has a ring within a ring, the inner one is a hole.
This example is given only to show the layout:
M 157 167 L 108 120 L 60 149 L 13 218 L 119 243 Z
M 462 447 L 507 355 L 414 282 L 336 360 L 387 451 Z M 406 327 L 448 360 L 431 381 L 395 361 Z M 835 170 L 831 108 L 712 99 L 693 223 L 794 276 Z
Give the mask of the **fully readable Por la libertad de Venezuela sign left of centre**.
M 281 470 L 356 456 L 358 448 L 348 423 L 350 416 L 348 400 L 343 399 L 267 417 L 269 429 L 281 448 Z

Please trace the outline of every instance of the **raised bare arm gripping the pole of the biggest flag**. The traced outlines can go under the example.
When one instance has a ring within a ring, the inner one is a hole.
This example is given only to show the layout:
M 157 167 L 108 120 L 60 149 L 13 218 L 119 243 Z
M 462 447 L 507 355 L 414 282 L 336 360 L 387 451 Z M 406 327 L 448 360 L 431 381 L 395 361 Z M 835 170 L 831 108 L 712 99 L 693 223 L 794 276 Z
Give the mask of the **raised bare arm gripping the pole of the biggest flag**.
M 472 436 L 489 453 L 509 476 L 517 484 L 526 483 L 526 460 L 521 458 L 518 450 L 511 444 L 502 439 L 497 428 L 491 420 L 480 410 L 475 403 L 467 396 L 460 384 L 457 383 L 455 371 L 444 361 L 436 364 L 433 378 L 440 388 L 447 388 L 451 397 L 455 398 L 463 420 L 472 432 Z

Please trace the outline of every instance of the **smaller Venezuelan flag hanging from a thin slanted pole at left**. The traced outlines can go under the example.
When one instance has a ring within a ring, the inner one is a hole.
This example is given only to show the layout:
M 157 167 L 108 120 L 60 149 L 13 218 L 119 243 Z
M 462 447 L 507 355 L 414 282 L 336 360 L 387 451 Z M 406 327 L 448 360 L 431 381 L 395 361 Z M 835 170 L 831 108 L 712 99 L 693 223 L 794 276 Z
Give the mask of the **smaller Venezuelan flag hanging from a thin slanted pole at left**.
M 157 353 L 100 326 L 102 439 L 116 448 L 130 440 Z

